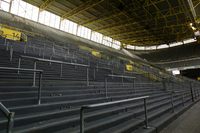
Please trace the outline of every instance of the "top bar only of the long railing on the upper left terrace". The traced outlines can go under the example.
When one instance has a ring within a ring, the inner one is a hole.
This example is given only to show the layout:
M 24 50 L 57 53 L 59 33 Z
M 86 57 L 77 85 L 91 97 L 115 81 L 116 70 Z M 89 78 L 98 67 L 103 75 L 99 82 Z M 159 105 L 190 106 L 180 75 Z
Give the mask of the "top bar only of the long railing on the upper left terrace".
M 89 67 L 89 65 L 85 65 L 85 64 L 70 63 L 70 62 L 64 62 L 64 61 L 58 61 L 58 60 L 50 60 L 50 59 L 42 59 L 42 58 L 31 57 L 31 56 L 23 56 L 22 55 L 21 58 L 27 58 L 27 59 L 32 59 L 32 60 L 42 61 L 42 62 L 51 62 L 51 63 L 66 64 L 66 65 L 73 65 L 73 66 Z

